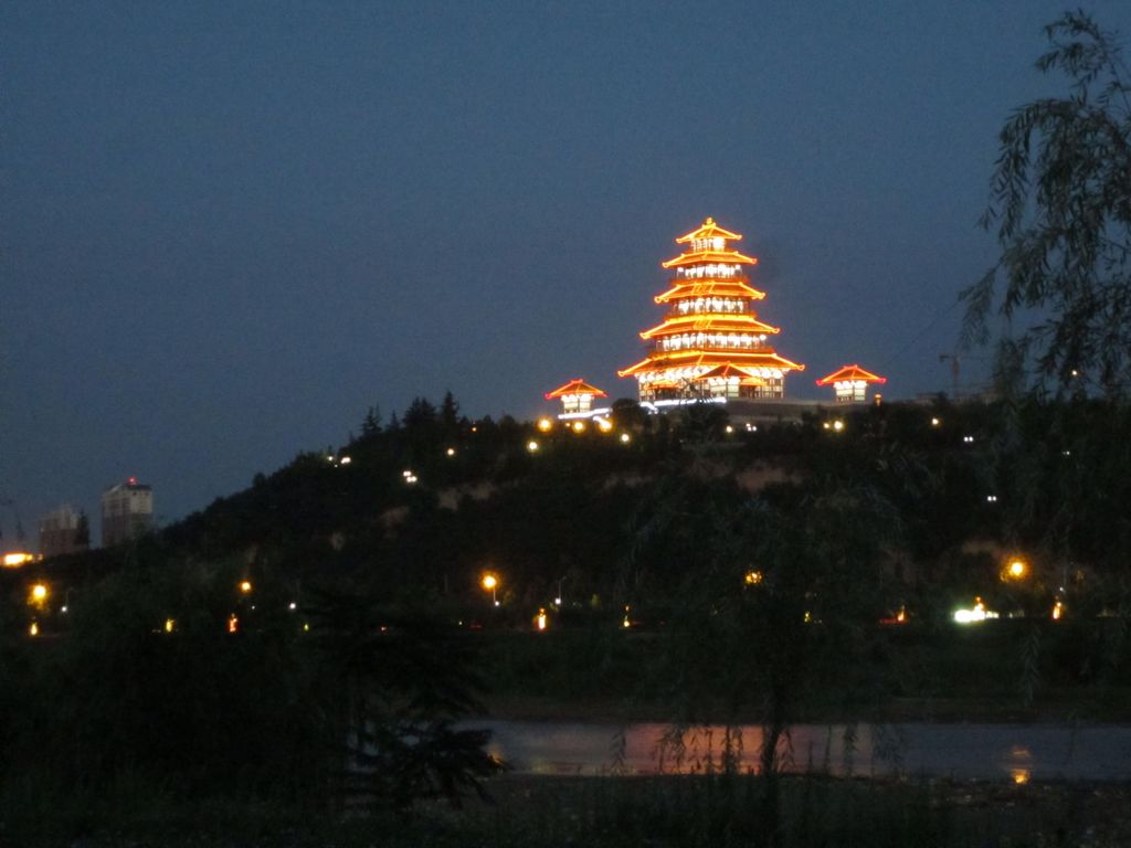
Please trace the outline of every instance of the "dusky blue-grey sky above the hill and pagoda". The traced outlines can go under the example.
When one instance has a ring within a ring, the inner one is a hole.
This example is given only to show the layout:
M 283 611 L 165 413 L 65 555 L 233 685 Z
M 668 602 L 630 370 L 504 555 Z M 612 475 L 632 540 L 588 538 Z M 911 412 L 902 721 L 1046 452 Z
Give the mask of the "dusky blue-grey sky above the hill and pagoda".
M 634 396 L 615 371 L 708 215 L 761 259 L 787 395 L 847 362 L 947 390 L 996 133 L 1064 90 L 1033 68 L 1063 8 L 9 1 L 0 496 L 33 540 L 63 502 L 97 539 L 127 476 L 175 520 L 373 404 Z

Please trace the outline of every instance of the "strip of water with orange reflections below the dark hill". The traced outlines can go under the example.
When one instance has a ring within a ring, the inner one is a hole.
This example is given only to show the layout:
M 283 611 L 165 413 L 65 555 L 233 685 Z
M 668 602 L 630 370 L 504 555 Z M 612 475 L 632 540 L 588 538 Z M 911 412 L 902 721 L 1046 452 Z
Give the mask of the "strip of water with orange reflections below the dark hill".
M 654 775 L 718 770 L 727 751 L 723 727 L 688 732 L 682 749 L 671 727 L 480 721 L 492 730 L 489 752 L 520 773 Z M 743 726 L 729 751 L 742 771 L 757 771 L 762 732 Z M 1051 725 L 797 725 L 778 747 L 786 771 L 834 776 L 912 775 L 1030 779 L 1131 779 L 1131 727 Z

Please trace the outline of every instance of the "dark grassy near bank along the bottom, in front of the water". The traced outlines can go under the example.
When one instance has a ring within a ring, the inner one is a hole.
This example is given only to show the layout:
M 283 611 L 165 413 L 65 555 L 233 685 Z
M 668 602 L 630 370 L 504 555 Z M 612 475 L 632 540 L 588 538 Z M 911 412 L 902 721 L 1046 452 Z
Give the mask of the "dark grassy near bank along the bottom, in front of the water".
M 1131 787 L 899 782 L 793 777 L 780 781 L 779 848 L 1021 848 L 1131 842 Z M 493 803 L 422 805 L 409 815 L 300 816 L 222 802 L 166 801 L 116 820 L 0 823 L 0 845 L 55 848 L 363 848 L 760 846 L 765 784 L 752 775 L 527 778 L 489 784 Z M 15 827 L 14 827 L 15 825 Z M 81 839 L 83 841 L 78 841 Z

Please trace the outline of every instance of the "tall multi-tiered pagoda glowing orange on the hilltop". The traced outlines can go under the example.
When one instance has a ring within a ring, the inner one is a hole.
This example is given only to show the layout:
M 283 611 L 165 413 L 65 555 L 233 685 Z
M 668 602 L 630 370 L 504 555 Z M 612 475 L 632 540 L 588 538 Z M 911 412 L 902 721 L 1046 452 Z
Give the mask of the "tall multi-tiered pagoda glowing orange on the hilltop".
M 804 370 L 774 349 L 770 339 L 780 328 L 758 318 L 754 303 L 766 293 L 750 286 L 748 269 L 758 259 L 728 245 L 740 239 L 707 218 L 675 240 L 687 246 L 662 265 L 674 276 L 655 298 L 667 313 L 640 334 L 647 358 L 616 372 L 637 379 L 641 404 L 783 398 L 785 375 Z

